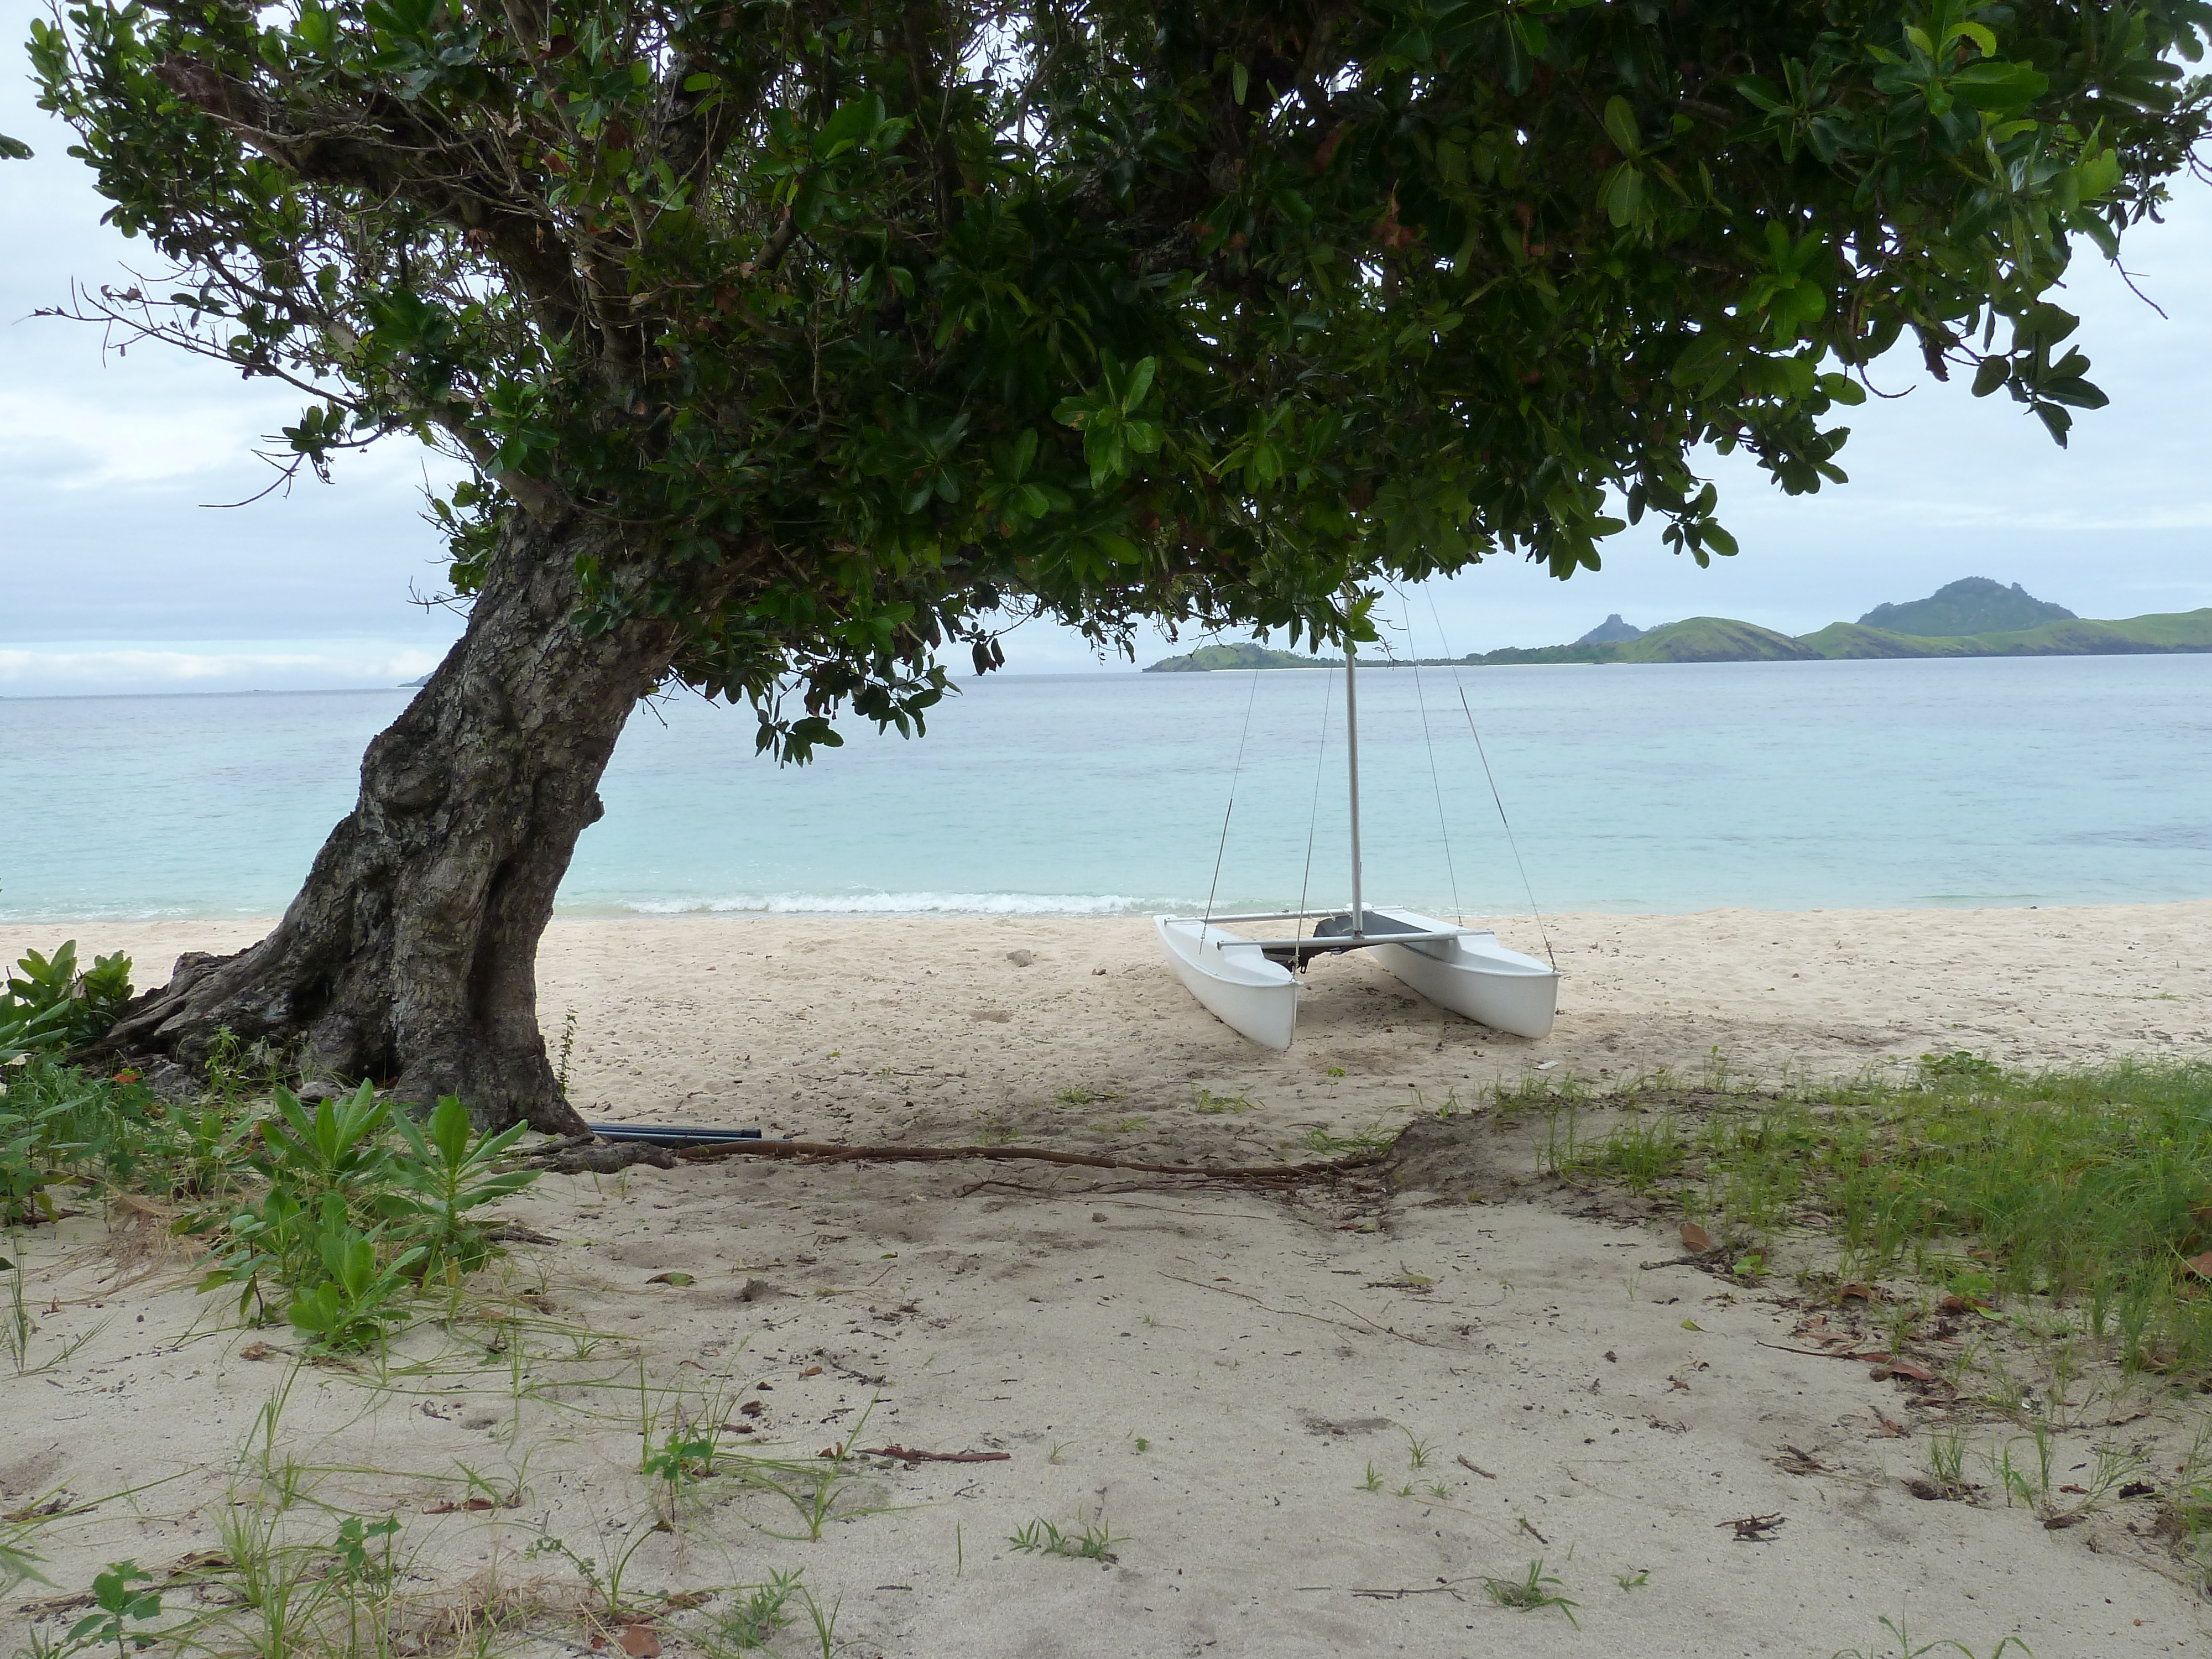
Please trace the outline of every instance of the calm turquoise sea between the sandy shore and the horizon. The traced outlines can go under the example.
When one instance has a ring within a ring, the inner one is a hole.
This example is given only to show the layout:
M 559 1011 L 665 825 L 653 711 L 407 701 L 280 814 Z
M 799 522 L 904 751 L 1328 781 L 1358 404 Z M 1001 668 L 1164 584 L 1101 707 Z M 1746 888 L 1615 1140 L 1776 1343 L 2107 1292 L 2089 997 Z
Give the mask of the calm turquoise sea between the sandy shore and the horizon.
M 2212 896 L 2212 657 L 1458 686 L 1548 911 Z M 405 697 L 0 701 L 0 918 L 281 909 Z M 562 907 L 1197 907 L 1232 770 L 1217 907 L 1296 900 L 1310 845 L 1314 902 L 1340 902 L 1340 743 L 1332 672 L 971 681 L 922 741 L 863 730 L 790 770 L 748 714 L 670 699 L 630 721 Z M 1528 907 L 1449 670 L 1363 672 L 1360 752 L 1371 900 Z

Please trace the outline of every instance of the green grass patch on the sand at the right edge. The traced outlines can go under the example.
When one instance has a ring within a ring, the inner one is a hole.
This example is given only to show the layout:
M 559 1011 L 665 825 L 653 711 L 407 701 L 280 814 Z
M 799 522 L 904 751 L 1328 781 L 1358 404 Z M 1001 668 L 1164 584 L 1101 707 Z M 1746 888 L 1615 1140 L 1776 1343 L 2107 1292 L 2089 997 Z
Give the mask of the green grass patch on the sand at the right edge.
M 1559 1170 L 1657 1190 L 1745 1250 L 1825 1225 L 1854 1279 L 2039 1301 L 2130 1371 L 2212 1376 L 2208 1064 L 2028 1073 L 1953 1053 L 1905 1084 L 1635 1104 L 1659 1110 L 1571 1141 Z

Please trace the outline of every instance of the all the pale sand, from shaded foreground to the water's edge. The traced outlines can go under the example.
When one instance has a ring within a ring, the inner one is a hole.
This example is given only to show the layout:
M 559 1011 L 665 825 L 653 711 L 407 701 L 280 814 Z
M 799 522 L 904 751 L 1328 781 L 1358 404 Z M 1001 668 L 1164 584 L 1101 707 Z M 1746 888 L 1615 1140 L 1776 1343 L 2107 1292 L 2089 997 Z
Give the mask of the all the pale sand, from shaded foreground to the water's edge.
M 2152 1537 L 2154 1495 L 2059 1531 L 1986 1491 L 1913 1498 L 1933 1436 L 1964 1431 L 1993 1484 L 1986 1453 L 2028 1416 L 1801 1352 L 1807 1321 L 1847 1314 L 1719 1281 L 1663 1223 L 1540 1177 L 1540 1119 L 1433 1113 L 1535 1066 L 2203 1057 L 2208 925 L 2203 902 L 1559 918 L 1544 1042 L 1444 1020 L 1352 960 L 1316 971 L 1298 1044 L 1267 1055 L 1190 1004 L 1144 922 L 557 922 L 542 1000 L 555 1040 L 575 1011 L 588 1115 L 1223 1161 L 1427 1121 L 1396 1186 L 1287 1199 L 1042 1166 L 546 1177 L 504 1210 L 549 1243 L 515 1243 L 476 1292 L 509 1316 L 498 1352 L 482 1325 L 425 1325 L 358 1371 L 294 1374 L 285 1332 L 226 1323 L 157 1232 L 77 1217 L 11 1245 L 44 1369 L 0 1378 L 0 1511 L 164 1482 L 40 1531 L 77 1590 L 108 1559 L 212 1548 L 292 1458 L 314 1493 L 301 1535 L 398 1513 L 422 1597 L 557 1601 L 575 1573 L 533 1540 L 604 1562 L 628 1537 L 646 1590 L 803 1568 L 825 1608 L 841 1597 L 847 1655 L 1825 1659 L 1893 1650 L 1882 1615 L 1975 1659 L 2006 1635 L 2039 1659 L 2203 1652 L 2212 1604 Z M 144 982 L 254 931 L 77 936 L 131 949 Z M 2104 1444 L 2157 1484 L 2201 1418 L 2093 1380 L 2039 1391 L 2073 1482 Z M 759 1455 L 858 1429 L 1006 1458 L 852 1462 L 847 1520 L 818 1542 L 723 1473 L 655 1533 L 639 1444 L 677 1413 L 750 1429 L 723 1444 Z M 518 1504 L 431 1513 L 471 1491 L 460 1469 Z M 1739 1540 L 1754 1515 L 1781 1522 Z M 1115 1559 L 1011 1548 L 1033 1520 L 1104 1522 Z M 1484 1590 L 1531 1562 L 1579 1626 Z M 0 1608 L 0 1646 L 33 1615 L 66 1626 L 55 1595 Z M 723 1606 L 666 1615 L 670 1652 Z M 577 1624 L 535 1646 L 588 1652 Z M 821 1648 L 801 1619 L 776 1650 Z

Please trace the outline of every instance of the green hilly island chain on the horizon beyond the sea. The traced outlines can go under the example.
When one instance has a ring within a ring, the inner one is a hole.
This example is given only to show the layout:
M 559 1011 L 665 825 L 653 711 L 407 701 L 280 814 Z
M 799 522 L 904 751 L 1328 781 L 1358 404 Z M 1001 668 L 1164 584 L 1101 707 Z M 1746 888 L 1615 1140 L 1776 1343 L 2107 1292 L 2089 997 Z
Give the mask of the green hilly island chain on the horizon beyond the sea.
M 1686 617 L 1663 628 L 1637 628 L 1619 613 L 1571 646 L 1506 646 L 1467 657 L 1422 657 L 1422 666 L 1467 664 L 1608 664 L 1608 661 L 1840 661 L 1869 657 L 2141 657 L 2212 653 L 2212 606 L 2157 613 L 2126 622 L 2095 622 L 2017 582 L 2004 586 L 1969 575 L 1936 588 L 1927 599 L 1878 604 L 1858 622 L 1832 622 L 1798 637 L 1734 617 Z M 1411 659 L 1378 657 L 1376 668 Z M 1298 657 L 1265 646 L 1199 646 L 1166 657 L 1144 672 L 1190 675 L 1219 668 L 1340 668 L 1336 657 Z

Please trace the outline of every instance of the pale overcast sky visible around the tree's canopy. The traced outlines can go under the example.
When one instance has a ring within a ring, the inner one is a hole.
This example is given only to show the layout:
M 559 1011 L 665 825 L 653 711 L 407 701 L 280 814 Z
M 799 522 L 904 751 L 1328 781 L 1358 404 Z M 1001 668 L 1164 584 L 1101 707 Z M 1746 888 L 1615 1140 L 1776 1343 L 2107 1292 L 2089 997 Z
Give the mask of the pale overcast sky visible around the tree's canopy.
M 69 285 L 115 281 L 144 257 L 100 226 L 104 201 L 31 102 L 22 53 L 33 7 L 0 0 L 0 133 L 38 150 L 0 161 L 0 695 L 389 686 L 431 668 L 458 633 L 411 593 L 440 586 L 422 482 L 440 462 L 385 445 L 252 507 L 252 456 L 290 422 L 294 394 L 97 330 L 33 319 Z M 1909 396 L 1847 411 L 1851 484 L 1787 500 L 1750 467 L 1717 462 L 1743 544 L 1699 571 L 1657 533 L 1608 544 L 1606 568 L 1559 584 L 1515 562 L 1436 584 L 1444 639 L 1413 606 L 1422 653 L 1573 639 L 1610 611 L 1639 626 L 1730 615 L 1787 633 L 1856 619 L 1962 575 L 2020 582 L 2084 617 L 2212 604 L 2212 190 L 2185 184 L 2168 223 L 2126 246 L 2128 292 L 2095 257 L 2062 303 L 2112 407 L 2053 447 L 2008 398 L 1973 400 L 1913 363 L 1876 385 Z M 1646 526 L 1648 531 L 1648 526 Z M 1095 666 L 1051 628 L 1009 641 L 1011 672 Z M 1161 655 L 1139 653 L 1141 661 Z

